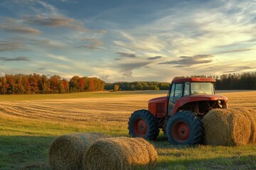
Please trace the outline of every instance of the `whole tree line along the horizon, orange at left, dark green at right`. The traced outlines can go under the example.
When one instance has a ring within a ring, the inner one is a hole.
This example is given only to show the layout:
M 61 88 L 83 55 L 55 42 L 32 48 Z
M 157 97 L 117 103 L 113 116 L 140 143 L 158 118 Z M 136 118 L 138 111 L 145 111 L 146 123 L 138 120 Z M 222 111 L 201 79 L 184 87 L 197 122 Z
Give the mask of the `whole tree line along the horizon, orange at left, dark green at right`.
M 221 76 L 192 75 L 216 79 L 217 90 L 256 90 L 256 72 L 223 74 Z M 175 77 L 174 79 L 181 78 Z M 58 75 L 47 77 L 40 74 L 6 74 L 0 77 L 0 94 L 65 94 L 82 91 L 138 91 L 169 90 L 169 83 L 134 81 L 105 83 L 96 77 L 74 76 L 69 81 Z

